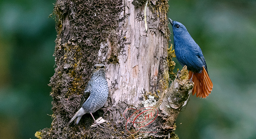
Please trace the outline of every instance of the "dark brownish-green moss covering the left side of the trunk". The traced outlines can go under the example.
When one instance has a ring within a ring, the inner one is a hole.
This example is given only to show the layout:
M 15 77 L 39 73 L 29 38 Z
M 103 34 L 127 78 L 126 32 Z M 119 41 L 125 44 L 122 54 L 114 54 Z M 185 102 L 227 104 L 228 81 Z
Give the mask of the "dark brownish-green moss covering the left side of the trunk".
M 55 40 L 55 74 L 49 86 L 52 87 L 53 122 L 51 128 L 40 130 L 40 137 L 53 138 L 90 138 L 102 135 L 100 130 L 88 130 L 93 119 L 81 119 L 80 126 L 66 126 L 78 110 L 85 85 L 90 80 L 91 69 L 99 63 L 97 56 L 101 44 L 111 36 L 110 41 L 118 57 L 122 46 L 127 42 L 118 34 L 119 14 L 123 10 L 122 0 L 57 0 L 53 15 L 56 15 L 57 38 Z M 113 38 L 113 39 L 112 39 Z M 118 61 L 117 61 L 118 62 Z M 94 115 L 97 118 L 97 114 Z M 86 118 L 86 116 L 84 116 Z M 105 130 L 111 130 L 106 127 Z M 111 135 L 111 134 L 110 134 Z

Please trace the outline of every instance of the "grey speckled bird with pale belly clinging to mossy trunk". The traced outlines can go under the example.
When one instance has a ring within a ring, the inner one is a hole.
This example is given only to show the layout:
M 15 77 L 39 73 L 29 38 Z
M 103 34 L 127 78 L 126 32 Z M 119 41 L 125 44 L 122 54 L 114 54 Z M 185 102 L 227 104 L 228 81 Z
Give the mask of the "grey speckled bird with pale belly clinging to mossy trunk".
M 103 107 L 109 95 L 108 82 L 105 77 L 105 65 L 96 64 L 93 68 L 93 75 L 85 87 L 83 97 L 80 103 L 80 109 L 75 113 L 74 117 L 69 121 L 68 125 L 74 121 L 78 124 L 85 113 L 90 113 L 93 117 L 95 111 Z M 98 123 L 93 117 L 98 128 Z M 102 127 L 101 125 L 99 125 Z

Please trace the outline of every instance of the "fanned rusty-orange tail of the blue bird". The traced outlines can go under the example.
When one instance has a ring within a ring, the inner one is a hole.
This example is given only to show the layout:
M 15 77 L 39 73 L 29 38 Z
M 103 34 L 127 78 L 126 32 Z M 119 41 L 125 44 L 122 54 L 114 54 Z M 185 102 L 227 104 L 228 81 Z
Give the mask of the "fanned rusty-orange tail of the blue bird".
M 189 79 L 192 77 L 193 72 L 189 71 Z M 212 81 L 203 67 L 202 73 L 194 73 L 192 81 L 195 83 L 192 90 L 192 95 L 197 93 L 197 97 L 206 98 L 212 91 Z

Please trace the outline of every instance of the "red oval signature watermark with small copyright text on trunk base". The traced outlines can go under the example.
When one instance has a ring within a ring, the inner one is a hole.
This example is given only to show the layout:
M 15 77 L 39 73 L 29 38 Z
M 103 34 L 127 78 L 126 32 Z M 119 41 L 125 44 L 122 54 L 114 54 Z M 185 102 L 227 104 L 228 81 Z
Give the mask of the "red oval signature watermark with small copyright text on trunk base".
M 158 115 L 158 110 L 155 107 L 146 107 L 142 109 L 126 109 L 124 118 L 127 120 L 125 128 L 129 133 L 140 132 L 157 132 L 157 129 L 143 129 L 152 123 Z

